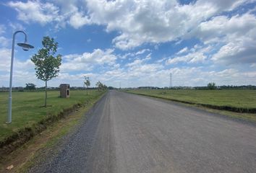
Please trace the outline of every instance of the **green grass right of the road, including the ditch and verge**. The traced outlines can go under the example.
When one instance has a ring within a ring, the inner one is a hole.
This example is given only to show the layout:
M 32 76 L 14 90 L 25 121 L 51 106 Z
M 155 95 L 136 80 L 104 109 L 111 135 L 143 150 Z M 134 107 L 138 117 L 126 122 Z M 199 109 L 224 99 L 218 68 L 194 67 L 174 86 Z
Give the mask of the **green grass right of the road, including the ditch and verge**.
M 187 102 L 210 112 L 220 113 L 229 117 L 256 122 L 255 112 L 231 112 L 225 110 L 225 107 L 231 107 L 234 110 L 236 110 L 236 108 L 237 110 L 255 110 L 256 90 L 133 89 L 125 90 L 125 92 L 132 94 L 142 94 L 160 99 L 168 99 L 176 102 Z M 220 107 L 220 109 L 218 109 L 218 107 Z M 221 109 L 222 107 L 223 109 Z

